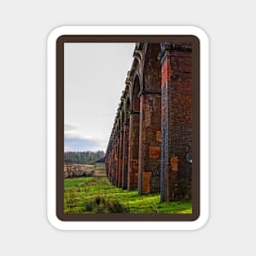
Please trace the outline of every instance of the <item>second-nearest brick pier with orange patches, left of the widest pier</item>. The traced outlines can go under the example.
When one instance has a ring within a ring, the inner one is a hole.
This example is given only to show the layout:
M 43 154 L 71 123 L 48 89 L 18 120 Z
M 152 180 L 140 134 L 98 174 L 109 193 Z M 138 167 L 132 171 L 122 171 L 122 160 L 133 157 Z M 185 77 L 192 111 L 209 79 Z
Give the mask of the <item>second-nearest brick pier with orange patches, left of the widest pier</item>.
M 159 191 L 161 131 L 161 74 L 159 44 L 146 48 L 140 96 L 139 194 Z

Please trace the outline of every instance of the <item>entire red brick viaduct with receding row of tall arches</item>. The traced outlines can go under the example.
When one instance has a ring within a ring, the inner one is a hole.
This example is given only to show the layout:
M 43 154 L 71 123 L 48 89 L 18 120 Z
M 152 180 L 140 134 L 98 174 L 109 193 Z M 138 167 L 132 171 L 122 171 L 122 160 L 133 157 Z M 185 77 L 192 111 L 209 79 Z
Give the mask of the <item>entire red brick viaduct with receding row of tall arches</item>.
M 190 43 L 136 43 L 106 150 L 110 182 L 191 200 Z

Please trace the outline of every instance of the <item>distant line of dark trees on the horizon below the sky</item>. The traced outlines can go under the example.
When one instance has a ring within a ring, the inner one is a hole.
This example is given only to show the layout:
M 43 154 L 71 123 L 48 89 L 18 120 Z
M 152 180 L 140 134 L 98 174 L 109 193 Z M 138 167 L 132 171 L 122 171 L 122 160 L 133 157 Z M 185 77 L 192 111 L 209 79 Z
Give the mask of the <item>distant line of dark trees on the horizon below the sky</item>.
M 104 162 L 104 151 L 67 151 L 64 152 L 65 163 L 70 164 L 94 164 L 96 162 Z

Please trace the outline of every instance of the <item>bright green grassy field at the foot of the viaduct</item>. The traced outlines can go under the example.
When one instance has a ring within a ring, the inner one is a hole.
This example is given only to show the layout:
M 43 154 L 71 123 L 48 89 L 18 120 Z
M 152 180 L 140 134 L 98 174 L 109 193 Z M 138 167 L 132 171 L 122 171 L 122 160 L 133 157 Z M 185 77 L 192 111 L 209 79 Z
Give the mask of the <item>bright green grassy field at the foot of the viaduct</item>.
M 88 166 L 93 177 L 66 178 L 65 213 L 192 213 L 190 201 L 159 203 L 160 195 L 138 195 L 110 184 L 104 164 Z

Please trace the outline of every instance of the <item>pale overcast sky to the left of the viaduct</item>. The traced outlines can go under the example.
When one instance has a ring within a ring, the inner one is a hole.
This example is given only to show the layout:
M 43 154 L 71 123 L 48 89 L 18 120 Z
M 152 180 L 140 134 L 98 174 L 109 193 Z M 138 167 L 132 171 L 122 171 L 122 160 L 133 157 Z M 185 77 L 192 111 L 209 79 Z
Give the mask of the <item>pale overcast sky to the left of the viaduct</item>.
M 106 151 L 134 47 L 65 43 L 65 151 Z

